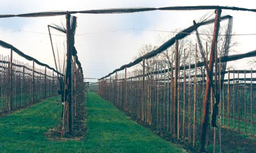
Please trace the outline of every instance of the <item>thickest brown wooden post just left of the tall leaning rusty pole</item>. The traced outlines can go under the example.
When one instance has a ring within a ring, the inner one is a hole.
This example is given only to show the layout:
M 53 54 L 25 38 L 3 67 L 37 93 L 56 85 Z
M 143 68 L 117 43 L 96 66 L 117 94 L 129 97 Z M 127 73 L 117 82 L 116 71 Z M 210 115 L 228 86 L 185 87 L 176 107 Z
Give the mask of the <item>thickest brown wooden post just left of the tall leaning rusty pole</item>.
M 178 64 L 179 64 L 179 41 L 175 40 L 175 80 L 174 80 L 174 138 L 177 135 L 178 118 Z

